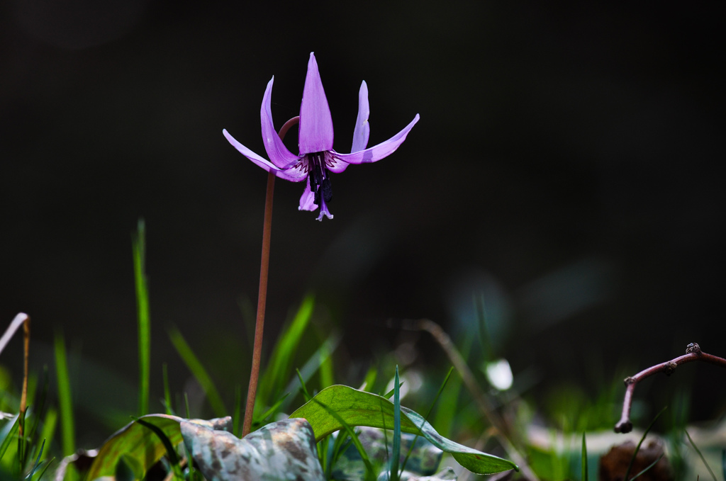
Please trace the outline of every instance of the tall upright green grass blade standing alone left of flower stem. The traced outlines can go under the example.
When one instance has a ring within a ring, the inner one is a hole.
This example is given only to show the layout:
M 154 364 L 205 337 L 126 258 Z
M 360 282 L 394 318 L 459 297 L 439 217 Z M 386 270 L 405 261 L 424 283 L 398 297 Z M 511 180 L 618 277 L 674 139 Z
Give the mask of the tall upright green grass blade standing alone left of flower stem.
M 134 254 L 134 284 L 139 329 L 139 416 L 149 411 L 149 378 L 151 372 L 151 320 L 149 316 L 149 286 L 146 276 L 146 229 L 140 218 L 136 233 L 131 234 Z

